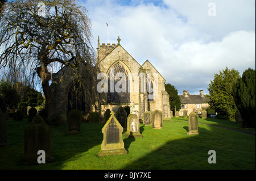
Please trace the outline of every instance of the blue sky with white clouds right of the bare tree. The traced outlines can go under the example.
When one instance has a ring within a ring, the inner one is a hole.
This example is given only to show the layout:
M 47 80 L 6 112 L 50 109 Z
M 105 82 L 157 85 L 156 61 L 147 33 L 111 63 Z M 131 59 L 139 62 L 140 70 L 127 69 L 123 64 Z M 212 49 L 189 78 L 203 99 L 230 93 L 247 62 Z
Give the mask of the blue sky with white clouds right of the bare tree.
M 154 2 L 154 3 L 153 3 Z M 216 16 L 208 3 L 216 3 Z M 149 60 L 179 94 L 208 92 L 219 70 L 255 69 L 255 1 L 119 1 L 84 3 L 97 37 L 121 45 L 140 64 Z

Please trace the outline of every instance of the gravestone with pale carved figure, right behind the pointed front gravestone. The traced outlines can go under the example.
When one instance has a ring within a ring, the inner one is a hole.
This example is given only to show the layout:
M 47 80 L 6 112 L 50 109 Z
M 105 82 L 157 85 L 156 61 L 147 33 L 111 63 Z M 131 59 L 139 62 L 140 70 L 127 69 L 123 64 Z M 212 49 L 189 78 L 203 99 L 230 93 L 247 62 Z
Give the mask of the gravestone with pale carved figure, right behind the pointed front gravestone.
M 142 138 L 142 134 L 139 133 L 139 117 L 135 113 L 130 113 L 127 119 L 127 131 L 126 137 Z

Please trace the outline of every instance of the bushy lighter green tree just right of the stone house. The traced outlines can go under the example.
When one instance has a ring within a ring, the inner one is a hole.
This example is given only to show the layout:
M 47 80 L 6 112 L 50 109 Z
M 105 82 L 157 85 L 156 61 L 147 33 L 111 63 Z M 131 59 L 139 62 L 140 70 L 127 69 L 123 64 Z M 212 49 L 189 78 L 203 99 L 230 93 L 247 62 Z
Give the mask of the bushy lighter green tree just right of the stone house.
M 237 70 L 226 68 L 220 71 L 220 74 L 214 74 L 213 81 L 210 81 L 209 104 L 220 119 L 234 120 L 237 106 L 233 98 L 233 82 L 236 82 L 239 77 Z

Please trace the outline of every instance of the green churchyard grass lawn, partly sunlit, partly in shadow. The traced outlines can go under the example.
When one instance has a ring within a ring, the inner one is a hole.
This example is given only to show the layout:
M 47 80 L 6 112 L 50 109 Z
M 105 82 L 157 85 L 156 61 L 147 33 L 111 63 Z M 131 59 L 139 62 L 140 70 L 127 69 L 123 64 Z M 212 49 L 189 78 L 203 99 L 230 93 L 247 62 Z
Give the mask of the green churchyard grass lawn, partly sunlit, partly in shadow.
M 51 128 L 55 162 L 24 166 L 23 121 L 7 120 L 10 146 L 0 147 L 0 169 L 255 169 L 255 136 L 213 127 L 243 129 L 233 121 L 199 118 L 197 135 L 187 135 L 188 119 L 163 122 L 163 129 L 140 125 L 143 138 L 126 138 L 127 155 L 98 157 L 103 124 L 81 123 L 81 133 L 65 134 L 67 125 Z M 207 123 L 207 124 L 200 124 Z M 249 130 L 255 132 L 255 129 Z M 125 131 L 123 132 L 125 133 Z M 216 151 L 216 164 L 208 163 L 208 151 Z

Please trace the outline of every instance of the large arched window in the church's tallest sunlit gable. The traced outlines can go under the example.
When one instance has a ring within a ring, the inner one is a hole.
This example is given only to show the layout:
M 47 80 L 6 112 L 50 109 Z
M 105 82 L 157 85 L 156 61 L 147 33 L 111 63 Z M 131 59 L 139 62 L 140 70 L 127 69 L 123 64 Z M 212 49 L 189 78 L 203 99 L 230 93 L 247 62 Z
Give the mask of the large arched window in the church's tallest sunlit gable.
M 128 79 L 127 70 L 119 62 L 110 68 L 108 73 L 108 103 L 130 103 Z

